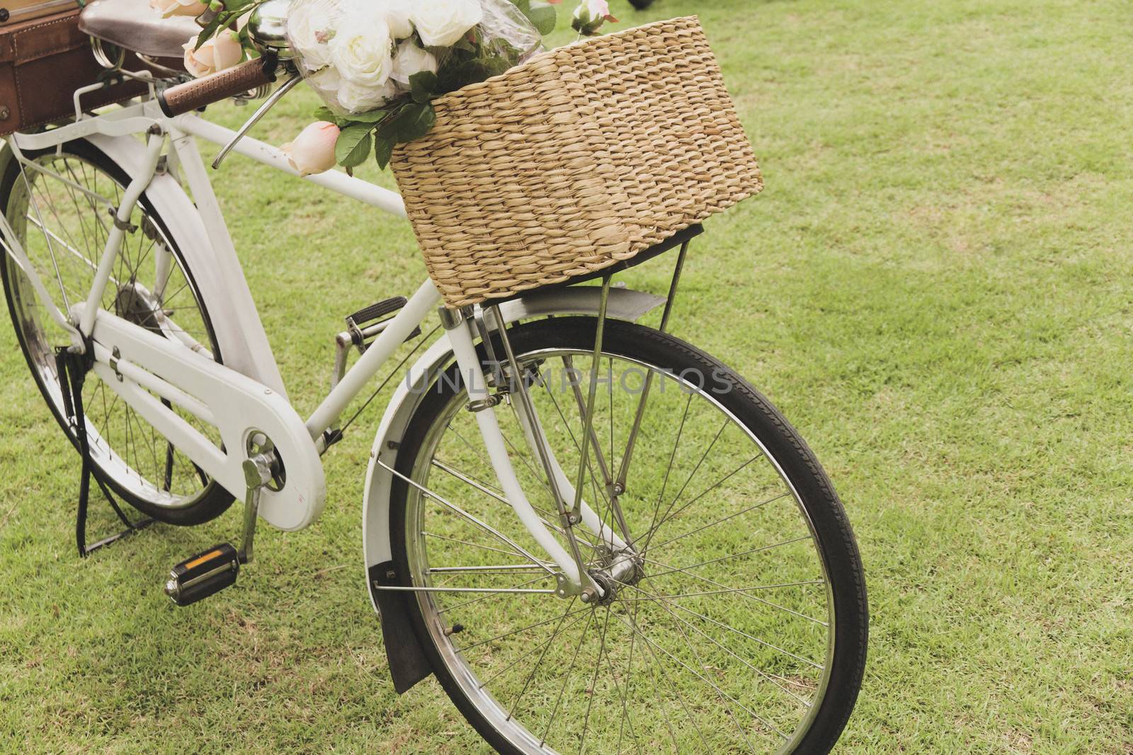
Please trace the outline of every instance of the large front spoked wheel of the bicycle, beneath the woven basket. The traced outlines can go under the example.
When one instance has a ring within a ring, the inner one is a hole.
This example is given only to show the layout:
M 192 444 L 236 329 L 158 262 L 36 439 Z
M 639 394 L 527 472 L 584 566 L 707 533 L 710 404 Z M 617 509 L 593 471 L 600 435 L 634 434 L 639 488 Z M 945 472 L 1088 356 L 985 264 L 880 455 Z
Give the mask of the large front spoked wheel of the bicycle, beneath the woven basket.
M 593 318 L 509 331 L 571 480 L 595 331 Z M 557 597 L 548 564 L 529 557 L 540 551 L 496 488 L 455 368 L 412 418 L 393 557 L 403 586 L 427 587 L 407 604 L 444 689 L 501 753 L 829 750 L 861 684 L 868 611 L 826 474 L 764 396 L 678 338 L 610 321 L 597 367 L 599 451 L 582 488 L 599 522 L 576 532 L 588 570 L 620 575 L 598 604 Z M 516 412 L 495 411 L 525 491 L 562 539 Z M 615 563 L 607 529 L 628 534 L 636 568 Z

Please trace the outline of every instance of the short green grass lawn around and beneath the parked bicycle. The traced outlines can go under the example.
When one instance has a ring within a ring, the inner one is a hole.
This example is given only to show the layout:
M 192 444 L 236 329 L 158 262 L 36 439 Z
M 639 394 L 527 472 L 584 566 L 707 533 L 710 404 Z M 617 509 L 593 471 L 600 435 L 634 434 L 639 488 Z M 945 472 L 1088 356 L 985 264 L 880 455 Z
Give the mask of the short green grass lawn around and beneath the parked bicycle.
M 841 750 L 1133 753 L 1128 3 L 614 10 L 699 12 L 760 156 L 674 329 L 776 402 L 846 504 L 872 624 Z M 216 185 L 306 414 L 340 318 L 423 277 L 412 233 L 238 157 Z M 327 456 L 313 527 L 263 529 L 235 589 L 177 609 L 169 567 L 239 506 L 79 561 L 77 457 L 0 328 L 0 752 L 478 752 L 438 685 L 390 684 L 360 552 L 380 415 Z

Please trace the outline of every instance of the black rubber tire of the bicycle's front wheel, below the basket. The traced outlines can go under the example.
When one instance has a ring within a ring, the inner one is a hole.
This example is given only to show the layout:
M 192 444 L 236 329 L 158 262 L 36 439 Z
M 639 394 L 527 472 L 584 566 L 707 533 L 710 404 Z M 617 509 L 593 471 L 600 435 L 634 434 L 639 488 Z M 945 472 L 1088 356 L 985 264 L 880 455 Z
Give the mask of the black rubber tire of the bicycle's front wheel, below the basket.
M 595 324 L 596 320 L 593 318 L 553 318 L 519 325 L 509 332 L 517 357 L 521 359 L 522 354 L 533 350 L 593 349 Z M 501 353 L 501 344 L 495 344 L 495 351 Z M 868 641 L 868 606 L 861 559 L 845 511 L 830 481 L 807 444 L 770 402 L 705 352 L 673 336 L 616 320 L 607 323 L 603 351 L 636 359 L 646 364 L 666 367 L 676 374 L 681 374 L 684 369 L 701 370 L 701 375 L 717 374 L 713 370 L 722 370 L 718 374 L 726 376 L 733 389 L 719 394 L 718 400 L 756 434 L 795 486 L 811 518 L 818 549 L 826 564 L 836 623 L 828 692 L 817 715 L 811 720 L 810 728 L 792 752 L 829 752 L 841 736 L 857 701 L 864 671 Z M 482 358 L 483 353 L 482 346 Z M 440 384 L 445 381 L 450 386 L 459 384 L 455 368 L 452 368 Z M 412 473 L 425 435 L 441 418 L 453 395 L 451 387 L 434 388 L 423 400 L 398 453 L 399 472 L 406 475 Z M 394 478 L 390 527 L 392 552 L 399 575 L 410 573 L 406 544 L 408 492 L 408 484 Z M 404 578 L 403 583 L 410 584 L 408 578 Z M 509 755 L 520 753 L 487 723 L 461 690 L 442 661 L 441 653 L 426 628 L 417 600 L 410 595 L 404 602 L 420 645 L 433 664 L 437 679 L 457 707 L 497 752 Z

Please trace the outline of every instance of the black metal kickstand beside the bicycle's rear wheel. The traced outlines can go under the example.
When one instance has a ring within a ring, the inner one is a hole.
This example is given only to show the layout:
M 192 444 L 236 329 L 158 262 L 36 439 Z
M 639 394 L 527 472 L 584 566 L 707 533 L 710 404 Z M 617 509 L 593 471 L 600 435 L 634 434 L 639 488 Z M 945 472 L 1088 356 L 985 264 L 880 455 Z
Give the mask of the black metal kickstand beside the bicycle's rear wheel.
M 63 411 L 66 412 L 67 421 L 75 431 L 75 437 L 78 438 L 78 451 L 79 455 L 83 457 L 83 472 L 78 484 L 78 513 L 75 517 L 75 544 L 78 546 L 78 555 L 80 558 L 86 558 L 100 548 L 109 546 L 116 540 L 120 540 L 128 534 L 144 530 L 154 522 L 152 518 L 130 522 L 126 514 L 122 513 L 121 506 L 119 506 L 118 501 L 114 500 L 114 497 L 111 495 L 107 483 L 94 474 L 94 462 L 91 461 L 91 443 L 86 436 L 86 413 L 83 410 L 83 383 L 86 380 L 86 374 L 91 369 L 93 354 L 94 349 L 90 341 L 87 342 L 86 354 L 76 354 L 67 348 L 56 350 L 56 371 L 59 375 L 59 387 L 62 392 Z M 86 509 L 87 503 L 91 498 L 92 477 L 99 484 L 99 489 L 102 490 L 102 495 L 107 498 L 107 503 L 109 503 L 110 507 L 114 509 L 114 514 L 117 514 L 118 518 L 126 525 L 126 529 L 118 534 L 104 538 L 93 546 L 87 547 Z

